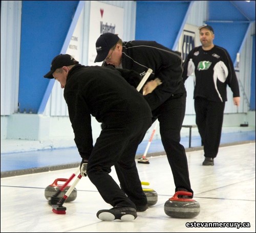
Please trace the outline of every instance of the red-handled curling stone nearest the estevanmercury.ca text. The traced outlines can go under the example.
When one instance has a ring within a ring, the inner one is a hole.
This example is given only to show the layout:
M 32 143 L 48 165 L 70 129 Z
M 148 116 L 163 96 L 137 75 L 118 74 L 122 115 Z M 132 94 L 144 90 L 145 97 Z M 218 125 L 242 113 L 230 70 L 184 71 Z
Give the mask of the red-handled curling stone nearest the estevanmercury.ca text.
M 191 196 L 192 193 L 178 191 L 164 204 L 164 212 L 173 218 L 194 218 L 200 213 L 200 204 L 190 198 L 179 198 L 178 195 Z

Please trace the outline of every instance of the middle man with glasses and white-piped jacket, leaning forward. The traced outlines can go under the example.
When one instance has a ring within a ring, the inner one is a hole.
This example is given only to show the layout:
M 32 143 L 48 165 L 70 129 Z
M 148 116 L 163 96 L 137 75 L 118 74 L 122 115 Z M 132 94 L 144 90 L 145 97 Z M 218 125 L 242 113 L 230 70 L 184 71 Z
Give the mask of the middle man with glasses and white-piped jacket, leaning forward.
M 143 87 L 153 118 L 160 123 L 160 134 L 173 172 L 175 192 L 189 191 L 187 157 L 180 144 L 180 131 L 185 116 L 186 89 L 182 81 L 182 59 L 172 50 L 155 41 L 122 40 L 113 33 L 104 33 L 96 41 L 95 62 L 103 66 L 132 69 L 143 76 L 148 68 L 153 73 Z M 191 198 L 193 195 L 191 196 Z

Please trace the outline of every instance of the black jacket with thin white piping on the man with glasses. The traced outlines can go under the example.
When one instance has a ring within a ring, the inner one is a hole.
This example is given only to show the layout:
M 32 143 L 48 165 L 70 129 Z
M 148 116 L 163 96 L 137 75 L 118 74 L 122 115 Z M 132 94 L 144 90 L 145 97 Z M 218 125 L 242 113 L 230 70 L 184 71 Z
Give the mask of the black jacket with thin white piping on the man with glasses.
M 103 62 L 102 65 L 108 65 Z M 122 67 L 133 69 L 143 76 L 148 68 L 153 75 L 148 81 L 159 78 L 162 84 L 144 96 L 154 110 L 175 94 L 186 92 L 182 81 L 182 58 L 156 41 L 134 40 L 123 42 Z

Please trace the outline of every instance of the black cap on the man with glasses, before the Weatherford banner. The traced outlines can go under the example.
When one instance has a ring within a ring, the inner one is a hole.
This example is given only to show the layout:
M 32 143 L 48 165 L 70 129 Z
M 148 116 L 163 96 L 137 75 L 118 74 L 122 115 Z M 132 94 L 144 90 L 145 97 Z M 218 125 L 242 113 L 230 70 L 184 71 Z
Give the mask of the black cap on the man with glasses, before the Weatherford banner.
M 94 62 L 104 61 L 111 48 L 118 42 L 119 37 L 116 34 L 106 32 L 100 35 L 96 41 L 97 56 Z

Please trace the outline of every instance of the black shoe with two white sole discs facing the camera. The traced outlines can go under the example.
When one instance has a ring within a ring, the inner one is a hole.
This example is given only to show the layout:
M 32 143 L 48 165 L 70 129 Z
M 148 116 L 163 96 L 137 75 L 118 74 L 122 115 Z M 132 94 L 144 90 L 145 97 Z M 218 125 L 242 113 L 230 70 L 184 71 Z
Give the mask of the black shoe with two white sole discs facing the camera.
M 102 221 L 113 221 L 120 219 L 122 221 L 133 221 L 137 218 L 137 212 L 132 207 L 115 206 L 111 209 L 101 209 L 98 211 L 97 218 Z

